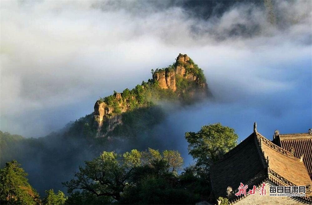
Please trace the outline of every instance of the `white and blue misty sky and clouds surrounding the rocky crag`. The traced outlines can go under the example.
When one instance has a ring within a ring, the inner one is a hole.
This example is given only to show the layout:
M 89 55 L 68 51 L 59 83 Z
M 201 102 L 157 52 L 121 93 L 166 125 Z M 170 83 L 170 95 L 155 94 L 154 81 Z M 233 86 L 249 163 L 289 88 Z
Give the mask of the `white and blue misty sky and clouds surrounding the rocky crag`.
M 245 138 L 254 121 L 267 137 L 307 132 L 311 11 L 310 1 L 1 1 L 0 129 L 46 135 L 182 53 L 215 102 L 173 114 L 166 132 L 222 122 Z

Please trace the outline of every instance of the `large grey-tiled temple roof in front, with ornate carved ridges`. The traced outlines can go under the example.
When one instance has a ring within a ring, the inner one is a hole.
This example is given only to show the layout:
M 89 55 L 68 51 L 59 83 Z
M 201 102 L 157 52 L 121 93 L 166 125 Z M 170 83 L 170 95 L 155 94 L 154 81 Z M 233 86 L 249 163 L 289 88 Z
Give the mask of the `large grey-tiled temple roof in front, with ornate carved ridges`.
M 249 188 L 267 179 L 283 186 L 306 186 L 312 181 L 304 162 L 263 137 L 256 130 L 211 166 L 211 183 L 216 197 L 227 197 L 227 187 L 237 192 L 240 183 Z M 308 196 L 308 200 L 312 200 Z

